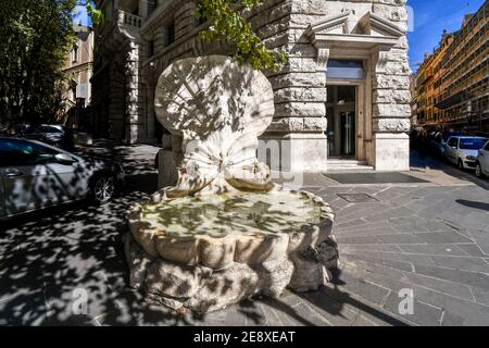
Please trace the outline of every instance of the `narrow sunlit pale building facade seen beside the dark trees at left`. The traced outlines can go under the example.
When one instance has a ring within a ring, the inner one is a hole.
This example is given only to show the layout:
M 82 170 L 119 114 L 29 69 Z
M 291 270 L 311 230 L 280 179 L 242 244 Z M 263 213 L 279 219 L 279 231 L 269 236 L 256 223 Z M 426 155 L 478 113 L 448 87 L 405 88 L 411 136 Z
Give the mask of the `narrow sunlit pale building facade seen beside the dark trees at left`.
M 75 25 L 76 40 L 66 54 L 63 72 L 67 74 L 68 90 L 65 95 L 66 123 L 77 127 L 88 116 L 85 112 L 91 100 L 90 78 L 93 72 L 93 29 L 89 26 Z

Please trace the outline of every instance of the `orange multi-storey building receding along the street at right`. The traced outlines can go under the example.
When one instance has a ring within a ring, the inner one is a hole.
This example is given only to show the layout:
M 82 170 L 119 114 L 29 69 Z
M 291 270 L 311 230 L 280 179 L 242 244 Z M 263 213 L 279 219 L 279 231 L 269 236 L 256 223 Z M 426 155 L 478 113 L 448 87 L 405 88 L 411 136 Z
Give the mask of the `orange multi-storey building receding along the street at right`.
M 436 130 L 489 133 L 489 1 L 444 34 L 417 72 L 417 116 Z

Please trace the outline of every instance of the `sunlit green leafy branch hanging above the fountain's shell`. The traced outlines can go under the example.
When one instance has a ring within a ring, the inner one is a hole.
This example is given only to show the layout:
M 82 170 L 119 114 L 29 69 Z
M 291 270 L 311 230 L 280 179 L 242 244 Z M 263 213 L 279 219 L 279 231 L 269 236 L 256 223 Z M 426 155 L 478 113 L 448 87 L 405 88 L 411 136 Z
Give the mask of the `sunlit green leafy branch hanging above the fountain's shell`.
M 254 70 L 279 70 L 287 61 L 287 55 L 266 49 L 242 15 L 243 11 L 249 11 L 261 2 L 261 0 L 199 0 L 196 17 L 209 22 L 209 27 L 200 33 L 200 38 L 206 41 L 229 42 L 230 55 L 239 63 L 249 63 Z

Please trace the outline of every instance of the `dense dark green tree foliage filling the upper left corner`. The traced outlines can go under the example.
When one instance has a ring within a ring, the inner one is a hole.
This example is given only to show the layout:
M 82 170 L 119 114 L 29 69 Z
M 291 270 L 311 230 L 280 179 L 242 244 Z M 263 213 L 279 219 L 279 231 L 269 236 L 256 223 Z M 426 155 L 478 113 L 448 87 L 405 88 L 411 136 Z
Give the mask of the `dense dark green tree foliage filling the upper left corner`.
M 62 109 L 62 69 L 75 35 L 75 0 L 2 1 L 1 122 L 50 122 Z

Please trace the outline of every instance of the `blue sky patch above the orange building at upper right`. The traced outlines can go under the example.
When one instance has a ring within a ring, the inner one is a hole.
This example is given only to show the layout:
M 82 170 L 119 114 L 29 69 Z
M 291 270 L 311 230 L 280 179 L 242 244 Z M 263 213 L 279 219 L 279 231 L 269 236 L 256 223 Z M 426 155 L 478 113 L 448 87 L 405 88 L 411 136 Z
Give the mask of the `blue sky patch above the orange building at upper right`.
M 413 9 L 414 30 L 409 33 L 410 64 L 415 72 L 424 52 L 432 52 L 443 29 L 460 29 L 464 14 L 476 12 L 485 0 L 408 0 Z

